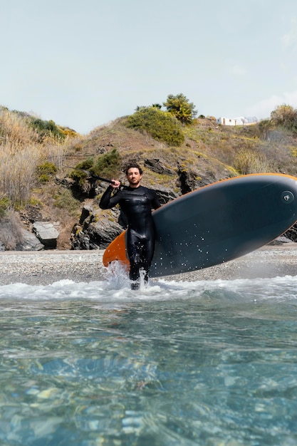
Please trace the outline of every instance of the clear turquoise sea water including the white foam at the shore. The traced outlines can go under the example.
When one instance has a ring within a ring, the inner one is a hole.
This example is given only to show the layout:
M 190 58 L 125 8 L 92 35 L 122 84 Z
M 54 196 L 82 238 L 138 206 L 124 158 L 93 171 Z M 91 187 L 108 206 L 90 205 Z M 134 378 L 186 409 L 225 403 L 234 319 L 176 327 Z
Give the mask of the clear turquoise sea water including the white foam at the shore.
M 297 445 L 297 276 L 0 286 L 1 446 Z

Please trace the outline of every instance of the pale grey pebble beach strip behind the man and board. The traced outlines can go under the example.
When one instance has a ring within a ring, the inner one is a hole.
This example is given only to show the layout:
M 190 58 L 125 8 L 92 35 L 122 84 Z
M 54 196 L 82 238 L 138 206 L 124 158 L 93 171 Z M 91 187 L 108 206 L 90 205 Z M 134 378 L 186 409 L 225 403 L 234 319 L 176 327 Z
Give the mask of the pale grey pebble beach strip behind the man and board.
M 85 282 L 103 280 L 107 274 L 102 263 L 103 252 L 0 251 L 0 286 L 16 283 L 48 285 L 63 279 Z M 297 243 L 267 245 L 225 264 L 162 279 L 204 281 L 266 279 L 276 276 L 297 276 Z

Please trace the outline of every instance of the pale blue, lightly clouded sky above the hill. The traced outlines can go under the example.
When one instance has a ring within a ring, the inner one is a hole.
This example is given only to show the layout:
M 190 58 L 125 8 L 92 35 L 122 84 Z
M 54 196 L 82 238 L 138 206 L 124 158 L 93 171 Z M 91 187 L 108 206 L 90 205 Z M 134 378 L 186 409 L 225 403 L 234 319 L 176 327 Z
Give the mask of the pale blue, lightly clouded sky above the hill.
M 297 108 L 296 0 L 0 0 L 0 105 L 83 135 L 182 93 L 197 115 Z

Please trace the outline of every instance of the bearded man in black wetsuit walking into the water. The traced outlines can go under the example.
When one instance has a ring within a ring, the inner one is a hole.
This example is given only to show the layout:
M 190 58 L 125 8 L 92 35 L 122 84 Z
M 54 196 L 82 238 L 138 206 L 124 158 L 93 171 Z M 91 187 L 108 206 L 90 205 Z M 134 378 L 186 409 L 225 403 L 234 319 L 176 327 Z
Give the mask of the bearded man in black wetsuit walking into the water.
M 125 174 L 129 187 L 120 187 L 120 181 L 113 180 L 100 199 L 101 209 L 110 209 L 120 204 L 127 217 L 127 253 L 130 259 L 129 277 L 132 289 L 140 287 L 140 270 L 148 281 L 150 265 L 155 251 L 155 226 L 152 209 L 161 206 L 155 190 L 140 185 L 142 168 L 137 163 L 127 165 Z M 111 196 L 113 190 L 118 190 Z

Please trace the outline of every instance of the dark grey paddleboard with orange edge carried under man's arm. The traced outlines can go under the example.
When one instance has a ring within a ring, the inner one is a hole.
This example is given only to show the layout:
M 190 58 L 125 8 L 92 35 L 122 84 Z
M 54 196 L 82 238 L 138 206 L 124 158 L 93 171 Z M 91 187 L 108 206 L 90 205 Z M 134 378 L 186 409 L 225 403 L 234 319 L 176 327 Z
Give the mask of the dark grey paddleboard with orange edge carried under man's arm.
M 150 277 L 208 268 L 272 242 L 297 221 L 297 178 L 251 174 L 201 187 L 152 213 L 156 228 Z M 123 232 L 103 264 L 129 266 Z

